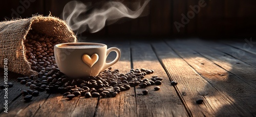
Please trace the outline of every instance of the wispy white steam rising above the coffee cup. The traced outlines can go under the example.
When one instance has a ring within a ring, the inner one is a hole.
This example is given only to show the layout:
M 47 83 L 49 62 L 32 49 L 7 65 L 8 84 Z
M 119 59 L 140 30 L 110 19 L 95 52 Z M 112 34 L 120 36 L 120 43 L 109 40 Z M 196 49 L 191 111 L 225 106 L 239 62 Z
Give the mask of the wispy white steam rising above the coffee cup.
M 127 8 L 120 2 L 109 1 L 100 6 L 92 7 L 92 4 L 84 5 L 80 1 L 71 1 L 63 9 L 62 18 L 67 21 L 70 28 L 76 35 L 89 30 L 91 33 L 100 31 L 106 24 L 112 24 L 120 18 L 137 18 L 139 17 L 150 0 L 142 4 L 137 2 L 133 5 L 135 10 Z

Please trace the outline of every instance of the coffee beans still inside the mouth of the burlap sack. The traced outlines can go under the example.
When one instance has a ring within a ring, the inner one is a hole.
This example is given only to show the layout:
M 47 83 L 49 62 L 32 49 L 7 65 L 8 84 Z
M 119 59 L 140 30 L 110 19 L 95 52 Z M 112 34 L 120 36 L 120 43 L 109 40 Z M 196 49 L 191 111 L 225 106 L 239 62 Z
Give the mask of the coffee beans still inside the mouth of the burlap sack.
M 42 68 L 56 67 L 54 58 L 54 45 L 59 44 L 57 37 L 49 37 L 30 30 L 24 45 L 26 46 L 26 57 L 31 63 L 31 69 L 40 72 Z

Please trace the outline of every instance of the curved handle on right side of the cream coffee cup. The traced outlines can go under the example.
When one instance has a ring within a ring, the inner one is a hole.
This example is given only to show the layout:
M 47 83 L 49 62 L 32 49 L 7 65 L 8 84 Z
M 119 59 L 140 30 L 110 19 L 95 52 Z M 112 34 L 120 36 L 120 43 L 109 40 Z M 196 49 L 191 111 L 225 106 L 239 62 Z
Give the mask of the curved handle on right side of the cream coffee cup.
M 115 51 L 116 52 L 116 58 L 115 60 L 113 60 L 110 63 L 105 63 L 105 65 L 102 67 L 101 71 L 104 71 L 106 68 L 109 68 L 110 66 L 114 65 L 115 63 L 117 63 L 121 57 L 121 52 L 118 48 L 116 47 L 111 47 L 109 49 L 106 50 L 106 58 L 109 56 L 110 52 Z

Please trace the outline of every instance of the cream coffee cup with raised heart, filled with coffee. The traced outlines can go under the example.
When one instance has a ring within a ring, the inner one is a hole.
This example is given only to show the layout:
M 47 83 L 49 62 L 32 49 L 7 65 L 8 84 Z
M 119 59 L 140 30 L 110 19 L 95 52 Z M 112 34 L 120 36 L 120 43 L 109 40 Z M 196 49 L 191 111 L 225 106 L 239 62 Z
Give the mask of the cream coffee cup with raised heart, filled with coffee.
M 111 51 L 117 53 L 116 58 L 106 63 L 106 57 Z M 117 63 L 120 55 L 118 48 L 107 49 L 107 46 L 101 43 L 77 42 L 54 46 L 55 61 L 59 70 L 72 78 L 96 76 Z

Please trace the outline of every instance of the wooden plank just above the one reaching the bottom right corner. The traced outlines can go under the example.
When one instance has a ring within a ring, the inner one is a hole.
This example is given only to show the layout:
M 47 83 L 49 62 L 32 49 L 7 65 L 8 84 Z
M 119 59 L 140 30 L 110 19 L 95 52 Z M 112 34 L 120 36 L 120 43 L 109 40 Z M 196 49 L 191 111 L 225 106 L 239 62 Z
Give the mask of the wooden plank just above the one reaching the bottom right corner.
M 256 88 L 256 80 L 254 79 L 254 76 L 256 75 L 255 67 L 251 67 L 237 58 L 205 46 L 203 42 L 190 40 L 185 42 L 177 41 L 176 43 L 183 44 L 183 46 L 199 52 L 199 54 L 209 59 L 216 65 L 222 67 L 231 74 L 238 76 L 241 80 Z

